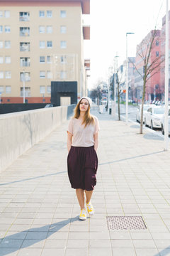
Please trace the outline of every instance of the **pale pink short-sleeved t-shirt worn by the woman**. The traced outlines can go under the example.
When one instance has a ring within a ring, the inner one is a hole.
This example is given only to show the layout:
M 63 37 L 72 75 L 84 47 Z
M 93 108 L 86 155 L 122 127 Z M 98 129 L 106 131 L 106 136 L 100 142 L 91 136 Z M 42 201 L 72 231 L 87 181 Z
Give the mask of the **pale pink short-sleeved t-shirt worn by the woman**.
M 99 131 L 98 118 L 93 116 L 95 124 L 84 127 L 81 120 L 72 118 L 69 120 L 67 132 L 73 135 L 72 146 L 94 146 L 94 134 Z

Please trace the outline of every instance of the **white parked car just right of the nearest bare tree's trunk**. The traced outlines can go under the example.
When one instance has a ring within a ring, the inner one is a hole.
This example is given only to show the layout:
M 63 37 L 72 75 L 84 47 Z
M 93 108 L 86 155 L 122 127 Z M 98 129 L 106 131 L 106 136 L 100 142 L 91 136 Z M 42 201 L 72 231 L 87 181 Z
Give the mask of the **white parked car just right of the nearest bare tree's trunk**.
M 162 128 L 162 117 L 164 115 L 165 108 L 162 106 L 152 105 L 144 114 L 145 126 L 154 128 Z

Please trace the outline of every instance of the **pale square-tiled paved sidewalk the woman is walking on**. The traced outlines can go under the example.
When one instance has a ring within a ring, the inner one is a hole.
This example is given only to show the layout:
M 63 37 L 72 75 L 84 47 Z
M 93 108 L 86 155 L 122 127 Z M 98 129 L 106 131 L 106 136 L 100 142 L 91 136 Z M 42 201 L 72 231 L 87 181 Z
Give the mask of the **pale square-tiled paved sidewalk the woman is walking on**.
M 0 256 L 170 255 L 170 153 L 163 139 L 94 114 L 101 126 L 95 215 L 79 220 L 67 177 L 66 122 L 0 174 Z M 147 228 L 108 230 L 106 216 L 142 216 Z

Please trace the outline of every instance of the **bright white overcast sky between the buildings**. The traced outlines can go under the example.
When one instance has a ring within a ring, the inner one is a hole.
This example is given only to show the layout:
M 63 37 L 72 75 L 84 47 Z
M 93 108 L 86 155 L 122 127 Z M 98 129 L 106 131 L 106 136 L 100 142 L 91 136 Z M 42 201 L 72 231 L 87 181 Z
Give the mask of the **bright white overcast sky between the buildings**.
M 90 0 L 91 14 L 84 16 L 91 26 L 91 40 L 84 41 L 85 58 L 91 59 L 89 88 L 98 79 L 107 79 L 108 68 L 113 65 L 117 54 L 118 65 L 125 60 L 125 34 L 128 36 L 128 56 L 135 56 L 136 46 L 147 33 L 162 27 L 162 17 L 166 13 L 165 0 Z M 169 3 L 170 9 L 170 3 Z

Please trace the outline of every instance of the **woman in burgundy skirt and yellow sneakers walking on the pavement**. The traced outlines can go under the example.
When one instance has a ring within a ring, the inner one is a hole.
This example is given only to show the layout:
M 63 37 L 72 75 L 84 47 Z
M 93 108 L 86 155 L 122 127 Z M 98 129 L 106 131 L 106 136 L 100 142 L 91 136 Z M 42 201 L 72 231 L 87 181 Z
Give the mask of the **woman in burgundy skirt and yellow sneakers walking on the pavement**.
M 90 215 L 94 214 L 91 196 L 96 185 L 98 168 L 98 119 L 90 114 L 91 99 L 81 97 L 75 107 L 74 117 L 70 119 L 67 129 L 67 168 L 72 188 L 76 189 L 77 199 L 81 208 L 79 218 L 86 220 L 86 208 Z

